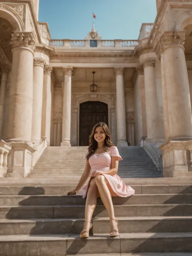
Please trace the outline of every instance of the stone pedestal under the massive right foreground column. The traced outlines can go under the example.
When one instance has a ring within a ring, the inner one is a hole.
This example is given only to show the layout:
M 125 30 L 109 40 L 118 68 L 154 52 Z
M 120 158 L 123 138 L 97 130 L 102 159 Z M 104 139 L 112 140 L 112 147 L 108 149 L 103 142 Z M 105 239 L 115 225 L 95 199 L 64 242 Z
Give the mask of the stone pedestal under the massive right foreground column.
M 187 143 L 188 141 L 166 141 L 160 146 L 163 177 L 188 177 Z

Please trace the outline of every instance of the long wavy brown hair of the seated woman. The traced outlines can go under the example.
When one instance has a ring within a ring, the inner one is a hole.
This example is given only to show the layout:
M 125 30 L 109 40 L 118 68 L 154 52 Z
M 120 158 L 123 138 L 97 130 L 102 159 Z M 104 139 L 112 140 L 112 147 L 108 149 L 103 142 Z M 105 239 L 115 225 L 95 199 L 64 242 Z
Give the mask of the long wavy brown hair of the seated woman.
M 97 149 L 97 141 L 94 138 L 94 134 L 95 134 L 95 130 L 97 127 L 101 126 L 105 132 L 105 141 L 104 141 L 104 150 L 108 151 L 109 147 L 114 146 L 113 143 L 111 142 L 111 133 L 109 132 L 109 128 L 107 126 L 107 124 L 103 123 L 103 122 L 99 122 L 97 123 L 93 129 L 92 129 L 92 133 L 90 135 L 90 139 L 89 139 L 89 147 L 88 147 L 88 154 L 87 154 L 87 160 L 89 160 L 90 156 L 94 155 L 94 152 Z

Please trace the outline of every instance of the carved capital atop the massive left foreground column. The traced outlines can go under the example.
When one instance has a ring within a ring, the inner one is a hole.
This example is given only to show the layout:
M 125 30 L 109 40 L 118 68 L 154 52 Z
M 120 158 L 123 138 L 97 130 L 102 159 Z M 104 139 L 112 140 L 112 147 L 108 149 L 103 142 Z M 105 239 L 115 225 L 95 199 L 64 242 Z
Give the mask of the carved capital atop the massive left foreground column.
M 11 35 L 11 45 L 16 47 L 29 48 L 33 53 L 35 50 L 35 39 L 32 32 L 14 32 Z

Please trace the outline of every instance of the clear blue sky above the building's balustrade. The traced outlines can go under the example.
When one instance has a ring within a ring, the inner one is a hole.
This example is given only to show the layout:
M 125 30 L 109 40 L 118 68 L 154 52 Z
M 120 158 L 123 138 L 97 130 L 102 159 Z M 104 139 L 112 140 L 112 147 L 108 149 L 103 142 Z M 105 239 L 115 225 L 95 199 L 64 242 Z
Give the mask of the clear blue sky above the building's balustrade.
M 156 0 L 40 0 L 39 21 L 46 21 L 52 39 L 81 40 L 92 28 L 102 39 L 137 39 L 142 23 L 153 23 Z

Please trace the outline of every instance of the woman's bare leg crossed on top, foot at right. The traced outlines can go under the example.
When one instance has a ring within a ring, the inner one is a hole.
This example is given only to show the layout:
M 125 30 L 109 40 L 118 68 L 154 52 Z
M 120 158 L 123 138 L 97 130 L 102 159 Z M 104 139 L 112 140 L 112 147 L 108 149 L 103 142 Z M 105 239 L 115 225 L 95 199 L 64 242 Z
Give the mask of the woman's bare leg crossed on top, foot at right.
M 95 182 L 100 194 L 100 198 L 105 205 L 105 208 L 107 209 L 107 212 L 109 213 L 109 218 L 110 218 L 110 226 L 112 228 L 117 229 L 117 222 L 115 222 L 115 213 L 114 213 L 114 207 L 113 207 L 113 202 L 111 198 L 111 193 L 109 191 L 109 188 L 107 187 L 107 183 L 105 180 L 105 176 L 103 175 L 98 175 L 95 177 Z

